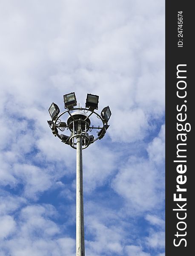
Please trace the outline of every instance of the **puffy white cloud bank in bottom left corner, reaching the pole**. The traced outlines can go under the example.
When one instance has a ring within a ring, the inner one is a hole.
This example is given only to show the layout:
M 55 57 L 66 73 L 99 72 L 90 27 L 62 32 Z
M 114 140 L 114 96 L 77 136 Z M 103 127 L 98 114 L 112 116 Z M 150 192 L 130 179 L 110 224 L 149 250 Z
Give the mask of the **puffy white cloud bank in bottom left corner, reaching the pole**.
M 20 211 L 16 221 L 9 215 L 0 217 L 1 238 L 12 235 L 0 247 L 13 256 L 72 256 L 75 239 L 62 236 L 60 227 L 51 220 L 55 216 L 57 212 L 51 205 L 31 205 Z

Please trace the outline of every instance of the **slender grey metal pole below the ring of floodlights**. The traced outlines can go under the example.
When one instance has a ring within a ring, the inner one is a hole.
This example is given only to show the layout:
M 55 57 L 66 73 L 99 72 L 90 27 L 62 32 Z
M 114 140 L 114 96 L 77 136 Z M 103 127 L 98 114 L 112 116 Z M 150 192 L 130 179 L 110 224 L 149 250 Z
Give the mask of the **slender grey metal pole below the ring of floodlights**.
M 81 137 L 77 137 L 76 256 L 85 256 L 83 212 L 83 163 Z

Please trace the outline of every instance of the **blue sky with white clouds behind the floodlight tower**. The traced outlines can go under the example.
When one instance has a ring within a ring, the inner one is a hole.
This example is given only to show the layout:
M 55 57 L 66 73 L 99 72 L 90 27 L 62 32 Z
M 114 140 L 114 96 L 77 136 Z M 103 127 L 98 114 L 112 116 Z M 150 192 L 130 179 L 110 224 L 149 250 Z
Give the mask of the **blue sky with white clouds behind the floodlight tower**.
M 63 94 L 111 108 L 83 151 L 86 256 L 164 256 L 164 1 L 0 1 L 0 256 L 75 255 Z

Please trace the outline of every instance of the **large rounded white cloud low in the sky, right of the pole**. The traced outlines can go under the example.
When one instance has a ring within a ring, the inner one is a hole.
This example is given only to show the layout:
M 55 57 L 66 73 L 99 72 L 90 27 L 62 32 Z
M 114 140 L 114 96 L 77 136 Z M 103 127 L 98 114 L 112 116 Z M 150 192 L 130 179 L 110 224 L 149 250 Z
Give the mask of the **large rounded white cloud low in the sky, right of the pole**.
M 158 173 L 147 160 L 130 159 L 112 182 L 112 188 L 127 201 L 128 210 L 135 212 L 152 210 L 162 204 L 159 185 Z

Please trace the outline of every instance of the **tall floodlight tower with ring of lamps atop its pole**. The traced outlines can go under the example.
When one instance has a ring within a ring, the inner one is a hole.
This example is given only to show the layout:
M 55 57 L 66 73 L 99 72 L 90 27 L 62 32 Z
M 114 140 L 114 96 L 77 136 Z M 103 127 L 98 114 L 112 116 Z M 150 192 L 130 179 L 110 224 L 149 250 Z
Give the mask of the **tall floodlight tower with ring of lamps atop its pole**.
M 103 108 L 100 115 L 95 112 L 98 109 L 99 96 L 87 94 L 85 108 L 77 106 L 75 93 L 68 93 L 63 96 L 64 107 L 66 111 L 60 113 L 60 109 L 55 103 L 49 108 L 49 114 L 52 120 L 47 121 L 54 136 L 70 145 L 77 150 L 76 158 L 76 256 L 85 256 L 85 241 L 84 241 L 84 211 L 83 211 L 83 163 L 82 150 L 87 148 L 96 140 L 100 140 L 106 134 L 109 128 L 108 121 L 111 116 L 109 106 Z M 67 114 L 68 119 L 63 122 L 60 118 Z M 94 115 L 93 115 L 94 114 Z M 90 116 L 93 119 L 94 125 L 91 124 Z M 97 118 L 96 118 L 97 117 Z M 98 124 L 97 124 L 98 122 Z M 69 130 L 69 136 L 59 134 Z M 97 131 L 95 137 L 94 131 Z M 89 134 L 91 133 L 91 134 Z

